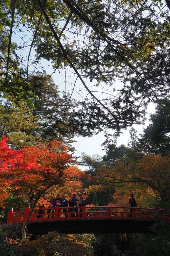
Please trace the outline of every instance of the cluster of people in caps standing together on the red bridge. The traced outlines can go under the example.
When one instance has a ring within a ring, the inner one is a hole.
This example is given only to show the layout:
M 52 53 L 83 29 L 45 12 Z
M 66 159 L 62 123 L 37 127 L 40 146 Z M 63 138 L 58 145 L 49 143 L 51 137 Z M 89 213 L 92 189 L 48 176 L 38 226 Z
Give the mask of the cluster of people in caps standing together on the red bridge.
M 60 195 L 58 194 L 56 198 L 54 198 L 53 195 L 51 195 L 51 199 L 48 200 L 47 197 L 44 197 L 44 200 L 47 201 L 47 203 L 49 203 L 48 209 L 47 209 L 47 218 L 54 218 L 54 215 L 52 213 L 54 213 L 54 208 L 58 208 L 58 217 L 60 217 L 60 213 L 61 213 L 61 209 L 63 209 L 63 213 L 65 215 L 65 217 L 68 217 L 67 214 L 67 208 L 64 207 L 70 207 L 68 208 L 68 212 L 71 212 L 71 216 L 72 217 L 82 217 L 82 214 L 78 214 L 78 210 L 79 212 L 82 212 L 82 207 L 86 206 L 86 202 L 83 199 L 83 197 L 80 197 L 80 201 L 79 199 L 76 197 L 75 194 L 70 196 L 70 199 L 67 200 L 66 195 L 63 195 L 62 197 L 60 197 Z M 79 201 L 79 203 L 78 203 Z M 80 208 L 75 208 L 80 206 Z M 62 208 L 63 207 L 63 208 Z M 41 205 L 39 207 L 38 210 L 38 214 L 45 214 L 45 205 Z M 52 209 L 51 209 L 52 208 Z M 38 215 L 37 218 L 41 218 L 42 215 Z

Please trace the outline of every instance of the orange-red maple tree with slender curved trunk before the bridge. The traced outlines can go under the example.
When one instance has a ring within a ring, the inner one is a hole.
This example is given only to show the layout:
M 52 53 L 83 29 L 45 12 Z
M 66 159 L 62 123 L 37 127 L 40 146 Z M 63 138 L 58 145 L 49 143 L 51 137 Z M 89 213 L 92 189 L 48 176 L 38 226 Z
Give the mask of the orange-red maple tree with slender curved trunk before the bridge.
M 51 141 L 48 146 L 25 146 L 23 150 L 10 149 L 6 144 L 7 139 L 3 141 L 7 153 L 0 178 L 8 181 L 10 190 L 20 190 L 29 198 L 30 212 L 22 228 L 24 239 L 26 224 L 46 190 L 55 184 L 63 186 L 67 181 L 81 180 L 85 173 L 72 162 L 72 155 L 68 153 L 67 147 L 57 140 Z M 8 155 L 8 151 L 11 154 Z

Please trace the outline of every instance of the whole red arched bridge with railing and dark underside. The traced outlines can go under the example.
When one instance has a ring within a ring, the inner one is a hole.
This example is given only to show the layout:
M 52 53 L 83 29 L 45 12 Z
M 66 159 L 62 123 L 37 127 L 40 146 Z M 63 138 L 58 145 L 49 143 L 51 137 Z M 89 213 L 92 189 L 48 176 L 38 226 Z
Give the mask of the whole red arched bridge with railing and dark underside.
M 21 212 L 13 212 L 12 209 L 8 224 L 23 223 L 29 211 L 30 207 Z M 160 218 L 170 220 L 170 210 L 114 206 L 40 208 L 32 212 L 27 232 L 149 233 L 150 227 Z

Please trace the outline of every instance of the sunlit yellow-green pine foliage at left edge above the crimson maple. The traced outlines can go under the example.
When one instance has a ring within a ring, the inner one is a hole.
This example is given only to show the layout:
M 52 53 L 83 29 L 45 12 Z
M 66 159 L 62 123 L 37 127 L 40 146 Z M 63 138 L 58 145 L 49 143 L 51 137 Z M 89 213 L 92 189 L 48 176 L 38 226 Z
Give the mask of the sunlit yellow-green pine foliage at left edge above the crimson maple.
M 25 102 L 15 104 L 12 100 L 1 100 L 0 104 L 0 137 L 7 136 L 15 148 L 34 144 L 34 130 L 39 127 L 37 117 Z

